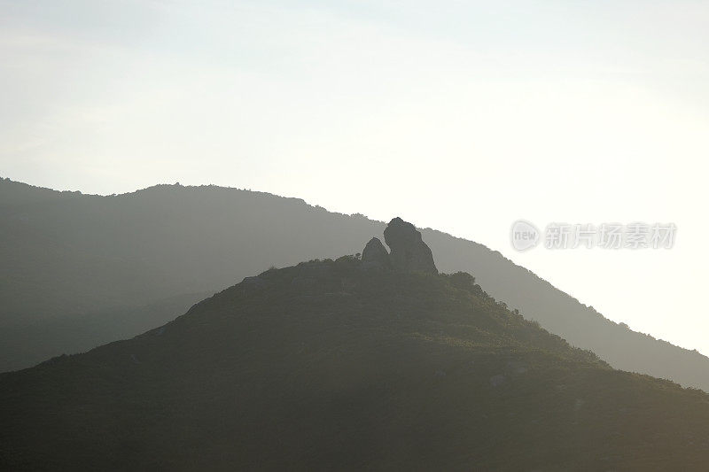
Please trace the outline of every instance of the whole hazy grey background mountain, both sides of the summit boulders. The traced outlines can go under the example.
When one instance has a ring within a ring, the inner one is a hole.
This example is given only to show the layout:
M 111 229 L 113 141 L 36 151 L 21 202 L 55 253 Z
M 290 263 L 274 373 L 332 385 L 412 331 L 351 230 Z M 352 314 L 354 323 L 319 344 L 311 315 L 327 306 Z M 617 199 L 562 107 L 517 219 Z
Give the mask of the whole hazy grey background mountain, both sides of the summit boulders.
M 0 370 L 136 335 L 183 313 L 195 294 L 361 251 L 384 228 L 246 190 L 160 185 L 101 197 L 0 180 Z M 609 321 L 481 244 L 422 233 L 442 272 L 474 273 L 491 296 L 612 367 L 709 391 L 705 356 Z M 133 321 L 114 328 L 123 317 Z

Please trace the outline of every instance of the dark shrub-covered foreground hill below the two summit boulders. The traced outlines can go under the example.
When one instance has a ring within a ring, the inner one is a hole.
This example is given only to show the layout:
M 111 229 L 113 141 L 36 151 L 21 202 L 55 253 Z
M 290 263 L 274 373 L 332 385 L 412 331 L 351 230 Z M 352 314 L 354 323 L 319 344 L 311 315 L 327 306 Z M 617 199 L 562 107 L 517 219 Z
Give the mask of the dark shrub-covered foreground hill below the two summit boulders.
M 620 372 L 471 275 L 271 269 L 0 375 L 7 470 L 705 470 L 709 396 Z

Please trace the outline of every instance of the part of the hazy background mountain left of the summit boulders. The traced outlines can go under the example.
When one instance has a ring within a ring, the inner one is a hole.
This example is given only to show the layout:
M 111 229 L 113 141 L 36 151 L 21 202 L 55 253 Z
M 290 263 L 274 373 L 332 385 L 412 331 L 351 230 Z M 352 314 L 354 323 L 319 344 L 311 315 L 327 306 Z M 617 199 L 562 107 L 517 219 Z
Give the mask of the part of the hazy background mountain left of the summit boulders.
M 99 197 L 0 179 L 0 371 L 135 336 L 246 275 L 345 253 L 378 224 L 245 190 Z

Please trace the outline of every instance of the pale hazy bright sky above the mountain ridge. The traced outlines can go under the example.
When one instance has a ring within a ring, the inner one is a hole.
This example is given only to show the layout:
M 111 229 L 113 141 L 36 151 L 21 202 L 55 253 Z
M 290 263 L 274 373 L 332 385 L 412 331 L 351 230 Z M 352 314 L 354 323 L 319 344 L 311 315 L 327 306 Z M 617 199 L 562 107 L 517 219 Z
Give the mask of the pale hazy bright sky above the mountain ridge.
M 3 1 L 0 175 L 393 215 L 709 354 L 709 2 Z M 674 222 L 674 249 L 509 230 Z

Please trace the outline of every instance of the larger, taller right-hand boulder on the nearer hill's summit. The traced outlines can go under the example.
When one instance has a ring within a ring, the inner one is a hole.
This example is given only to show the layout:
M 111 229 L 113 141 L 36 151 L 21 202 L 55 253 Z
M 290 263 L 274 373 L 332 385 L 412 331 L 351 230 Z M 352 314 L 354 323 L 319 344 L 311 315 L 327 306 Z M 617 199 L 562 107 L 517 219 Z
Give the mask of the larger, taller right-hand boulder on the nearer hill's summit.
M 411 223 L 394 218 L 384 230 L 386 245 L 395 270 L 438 274 L 431 248 L 421 239 L 421 233 Z

